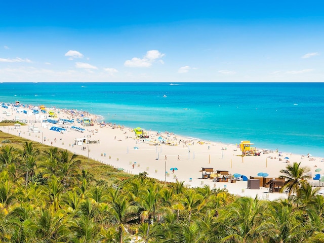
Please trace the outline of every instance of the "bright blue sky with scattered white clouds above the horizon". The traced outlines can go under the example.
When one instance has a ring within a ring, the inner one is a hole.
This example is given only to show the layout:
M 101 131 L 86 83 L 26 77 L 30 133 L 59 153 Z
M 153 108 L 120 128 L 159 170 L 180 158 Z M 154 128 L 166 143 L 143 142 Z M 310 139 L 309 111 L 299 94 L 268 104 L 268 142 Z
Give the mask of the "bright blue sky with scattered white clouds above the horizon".
M 3 1 L 0 82 L 323 82 L 324 2 Z

